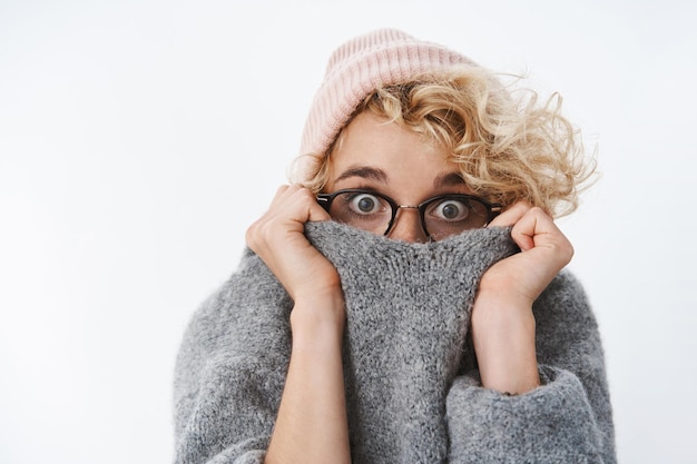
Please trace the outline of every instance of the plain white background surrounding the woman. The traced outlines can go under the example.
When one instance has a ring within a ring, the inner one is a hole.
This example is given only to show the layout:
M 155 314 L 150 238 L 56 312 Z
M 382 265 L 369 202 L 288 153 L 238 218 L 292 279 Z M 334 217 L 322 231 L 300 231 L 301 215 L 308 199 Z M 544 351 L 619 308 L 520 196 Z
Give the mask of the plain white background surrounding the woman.
M 0 462 L 171 461 L 184 327 L 377 27 L 565 97 L 622 463 L 695 463 L 696 3 L 0 0 Z

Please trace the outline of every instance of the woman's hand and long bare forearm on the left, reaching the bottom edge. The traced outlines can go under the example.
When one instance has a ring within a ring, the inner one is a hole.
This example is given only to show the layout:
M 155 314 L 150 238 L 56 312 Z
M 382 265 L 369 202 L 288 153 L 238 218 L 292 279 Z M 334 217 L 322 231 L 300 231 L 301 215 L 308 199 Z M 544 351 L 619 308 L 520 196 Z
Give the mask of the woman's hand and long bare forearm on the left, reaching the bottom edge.
M 330 215 L 307 189 L 278 188 L 247 229 L 247 245 L 294 300 L 293 345 L 265 463 L 348 463 L 342 366 L 344 299 L 334 266 L 305 238 L 305 223 Z

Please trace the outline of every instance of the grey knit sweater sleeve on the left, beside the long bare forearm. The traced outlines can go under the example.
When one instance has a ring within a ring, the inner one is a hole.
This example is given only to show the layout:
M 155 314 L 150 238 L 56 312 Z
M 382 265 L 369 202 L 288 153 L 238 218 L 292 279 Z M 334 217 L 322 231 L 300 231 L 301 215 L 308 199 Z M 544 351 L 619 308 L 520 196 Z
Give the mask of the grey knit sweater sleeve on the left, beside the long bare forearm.
M 287 369 L 288 306 L 273 279 L 235 275 L 198 308 L 175 369 L 176 464 L 264 462 Z

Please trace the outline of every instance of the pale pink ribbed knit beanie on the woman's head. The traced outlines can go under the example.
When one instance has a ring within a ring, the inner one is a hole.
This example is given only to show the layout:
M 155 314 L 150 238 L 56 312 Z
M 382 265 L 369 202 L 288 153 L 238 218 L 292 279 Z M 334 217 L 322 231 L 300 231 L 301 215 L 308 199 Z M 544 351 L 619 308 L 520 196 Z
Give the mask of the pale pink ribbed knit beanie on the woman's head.
M 395 29 L 359 36 L 332 53 L 305 122 L 301 154 L 324 154 L 361 101 L 381 86 L 409 82 L 469 58 Z

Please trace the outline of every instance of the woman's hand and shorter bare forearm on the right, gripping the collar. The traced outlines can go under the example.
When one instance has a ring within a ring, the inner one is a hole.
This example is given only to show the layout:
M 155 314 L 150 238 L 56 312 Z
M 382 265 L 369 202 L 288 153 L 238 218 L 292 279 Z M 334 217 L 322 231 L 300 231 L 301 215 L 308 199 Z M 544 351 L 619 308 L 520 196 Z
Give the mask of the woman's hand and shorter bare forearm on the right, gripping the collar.
M 519 203 L 491 226 L 513 226 L 521 253 L 482 276 L 472 310 L 472 339 L 482 385 L 520 394 L 540 384 L 532 304 L 571 260 L 573 247 L 540 208 Z

